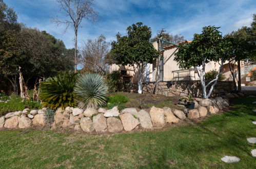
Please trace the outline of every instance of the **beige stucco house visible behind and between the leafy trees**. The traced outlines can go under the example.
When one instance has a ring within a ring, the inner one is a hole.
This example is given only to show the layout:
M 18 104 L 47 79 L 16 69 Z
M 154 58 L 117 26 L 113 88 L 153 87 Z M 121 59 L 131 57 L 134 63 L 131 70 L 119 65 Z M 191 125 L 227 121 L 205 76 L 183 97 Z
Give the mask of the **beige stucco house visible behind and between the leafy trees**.
M 190 43 L 191 40 L 185 40 L 179 45 Z M 155 49 L 157 49 L 157 42 L 153 44 Z M 194 70 L 181 70 L 179 68 L 178 62 L 174 61 L 174 54 L 178 51 L 178 47 L 175 45 L 170 45 L 163 48 L 163 59 L 160 61 L 160 66 L 156 68 L 156 62 L 154 64 L 148 64 L 145 72 L 143 82 L 154 82 L 156 81 L 156 73 L 160 75 L 160 81 L 175 81 L 175 80 L 200 80 L 200 77 Z M 243 68 L 243 61 L 241 63 Z M 206 64 L 205 72 L 211 70 L 219 70 L 220 65 L 218 62 L 210 61 Z M 159 69 L 157 71 L 157 69 Z M 125 82 L 137 82 L 136 72 L 134 72 L 133 67 L 131 66 L 120 66 L 120 65 L 111 65 L 110 72 L 114 70 L 120 70 L 123 74 L 123 79 Z M 222 73 L 226 77 L 225 80 L 231 81 L 231 73 L 229 71 L 228 61 L 225 62 L 223 66 Z M 244 77 L 245 76 L 245 77 Z M 242 82 L 245 83 L 245 78 L 247 75 L 242 75 Z

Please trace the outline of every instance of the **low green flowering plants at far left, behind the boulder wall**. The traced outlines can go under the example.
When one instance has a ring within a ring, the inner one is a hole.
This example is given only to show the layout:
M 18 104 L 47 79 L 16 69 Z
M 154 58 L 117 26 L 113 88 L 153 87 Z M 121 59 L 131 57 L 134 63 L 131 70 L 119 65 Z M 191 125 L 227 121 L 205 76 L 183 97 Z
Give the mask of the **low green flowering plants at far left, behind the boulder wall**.
M 32 99 L 25 99 L 24 101 L 19 95 L 12 94 L 10 96 L 4 93 L 0 94 L 0 116 L 9 112 L 22 111 L 25 108 L 41 109 L 40 102 L 32 101 Z

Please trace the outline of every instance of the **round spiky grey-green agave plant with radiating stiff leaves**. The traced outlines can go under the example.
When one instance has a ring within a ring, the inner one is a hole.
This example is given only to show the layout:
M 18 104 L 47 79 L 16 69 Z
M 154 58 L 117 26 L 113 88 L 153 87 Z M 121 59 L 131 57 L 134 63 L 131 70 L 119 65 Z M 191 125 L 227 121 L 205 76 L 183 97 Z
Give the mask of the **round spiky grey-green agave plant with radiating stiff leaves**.
M 79 108 L 99 108 L 107 102 L 108 87 L 100 74 L 87 73 L 78 77 L 74 87 Z

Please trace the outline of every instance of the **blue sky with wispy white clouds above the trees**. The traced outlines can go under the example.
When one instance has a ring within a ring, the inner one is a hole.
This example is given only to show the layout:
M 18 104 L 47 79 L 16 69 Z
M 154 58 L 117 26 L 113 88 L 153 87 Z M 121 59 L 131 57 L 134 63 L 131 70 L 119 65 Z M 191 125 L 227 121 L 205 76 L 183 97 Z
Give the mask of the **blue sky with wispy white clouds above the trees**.
M 73 29 L 63 33 L 63 27 L 56 27 L 51 19 L 65 18 L 55 0 L 4 0 L 18 14 L 18 22 L 28 27 L 45 30 L 62 39 L 67 48 L 73 47 Z M 115 40 L 115 34 L 126 33 L 133 23 L 143 22 L 151 27 L 152 36 L 165 28 L 172 34 L 181 34 L 191 40 L 202 27 L 221 27 L 223 34 L 249 26 L 252 14 L 256 13 L 256 3 L 251 0 L 211 0 L 211 1 L 168 1 L 168 0 L 96 0 L 94 8 L 99 12 L 95 24 L 84 20 L 78 30 L 78 46 L 83 40 L 103 34 L 108 41 Z

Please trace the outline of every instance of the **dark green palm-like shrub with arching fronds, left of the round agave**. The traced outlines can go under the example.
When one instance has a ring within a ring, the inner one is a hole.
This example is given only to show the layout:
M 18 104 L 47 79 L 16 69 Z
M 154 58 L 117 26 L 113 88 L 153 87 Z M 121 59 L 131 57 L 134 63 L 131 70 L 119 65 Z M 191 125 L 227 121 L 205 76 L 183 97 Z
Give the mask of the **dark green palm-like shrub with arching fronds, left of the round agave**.
M 55 77 L 50 77 L 41 83 L 40 99 L 44 107 L 57 109 L 62 107 L 74 107 L 74 86 L 76 74 L 71 72 L 63 72 Z

